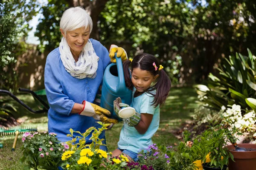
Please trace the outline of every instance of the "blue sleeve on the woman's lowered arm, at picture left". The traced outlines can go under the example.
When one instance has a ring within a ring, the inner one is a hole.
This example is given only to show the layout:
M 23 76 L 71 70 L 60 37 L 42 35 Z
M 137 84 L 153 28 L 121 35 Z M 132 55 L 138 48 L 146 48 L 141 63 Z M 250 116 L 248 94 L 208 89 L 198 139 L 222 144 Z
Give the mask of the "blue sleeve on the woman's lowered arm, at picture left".
M 50 55 L 50 54 L 49 54 Z M 49 58 L 53 58 L 48 56 Z M 44 70 L 44 85 L 49 102 L 50 108 L 57 113 L 69 115 L 75 102 L 70 100 L 69 97 L 63 94 L 63 89 L 60 82 L 60 74 L 58 64 L 55 61 L 51 61 L 47 57 L 47 62 Z M 53 62 L 53 63 L 52 63 Z

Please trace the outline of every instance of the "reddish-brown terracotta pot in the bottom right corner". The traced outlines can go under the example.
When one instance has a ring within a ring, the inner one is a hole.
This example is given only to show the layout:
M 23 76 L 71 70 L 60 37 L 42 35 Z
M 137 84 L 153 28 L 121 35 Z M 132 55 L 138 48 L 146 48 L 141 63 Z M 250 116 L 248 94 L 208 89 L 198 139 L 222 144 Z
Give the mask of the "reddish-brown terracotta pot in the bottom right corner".
M 256 149 L 256 144 L 238 144 L 238 147 Z M 233 154 L 235 161 L 229 159 L 229 170 L 256 170 L 256 151 L 232 151 L 232 149 L 235 149 L 232 145 L 228 145 L 227 148 Z

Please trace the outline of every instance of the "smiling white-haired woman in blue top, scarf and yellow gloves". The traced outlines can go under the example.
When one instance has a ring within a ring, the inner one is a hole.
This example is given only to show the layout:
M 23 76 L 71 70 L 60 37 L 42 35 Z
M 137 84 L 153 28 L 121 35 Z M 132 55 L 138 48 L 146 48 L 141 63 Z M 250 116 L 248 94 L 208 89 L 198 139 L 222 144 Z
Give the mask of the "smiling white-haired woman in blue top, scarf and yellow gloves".
M 108 118 L 111 113 L 93 102 L 105 68 L 115 60 L 115 52 L 122 59 L 127 58 L 126 52 L 114 46 L 109 54 L 99 41 L 89 39 L 92 28 L 91 17 L 84 8 L 67 9 L 60 22 L 63 36 L 60 45 L 47 56 L 44 83 L 50 105 L 48 130 L 57 133 L 62 142 L 71 140 L 67 137 L 70 128 L 84 133 L 89 127 L 99 128 L 97 121 L 118 122 Z M 86 138 L 88 144 L 90 136 Z M 105 139 L 105 132 L 99 137 Z M 107 147 L 101 146 L 101 149 L 107 150 Z

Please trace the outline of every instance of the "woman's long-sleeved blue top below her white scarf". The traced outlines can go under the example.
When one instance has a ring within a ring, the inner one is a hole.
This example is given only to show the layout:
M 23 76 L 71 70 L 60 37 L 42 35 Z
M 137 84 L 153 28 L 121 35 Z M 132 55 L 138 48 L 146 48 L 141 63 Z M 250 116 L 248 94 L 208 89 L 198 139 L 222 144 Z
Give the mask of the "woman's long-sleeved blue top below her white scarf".
M 99 41 L 93 39 L 90 39 L 90 41 L 99 57 L 97 76 L 94 79 L 76 79 L 72 77 L 64 68 L 59 48 L 55 48 L 47 56 L 44 85 L 50 105 L 48 131 L 49 133 L 57 133 L 61 142 L 72 139 L 67 137 L 70 128 L 84 133 L 89 127 L 101 127 L 93 117 L 70 114 L 75 103 L 81 104 L 83 100 L 93 103 L 99 86 L 102 84 L 105 68 L 110 64 L 108 50 Z M 78 133 L 74 133 L 74 136 L 76 135 Z M 86 142 L 91 142 L 89 141 L 90 137 L 91 134 L 87 136 Z M 100 138 L 105 138 L 105 132 L 102 132 Z

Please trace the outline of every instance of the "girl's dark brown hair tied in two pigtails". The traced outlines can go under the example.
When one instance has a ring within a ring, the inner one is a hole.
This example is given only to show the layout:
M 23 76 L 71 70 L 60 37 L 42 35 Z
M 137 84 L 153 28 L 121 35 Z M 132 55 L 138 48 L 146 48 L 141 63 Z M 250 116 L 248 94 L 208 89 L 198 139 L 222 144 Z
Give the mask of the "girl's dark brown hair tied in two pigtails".
M 157 70 L 155 70 L 155 67 L 153 63 L 156 64 Z M 157 78 L 157 83 L 152 86 L 152 88 L 148 88 L 146 93 L 154 96 L 154 100 L 152 105 L 157 107 L 157 105 L 162 105 L 169 94 L 170 88 L 171 88 L 171 80 L 166 74 L 163 69 L 159 71 L 159 62 L 156 57 L 152 56 L 151 54 L 138 54 L 134 57 L 132 62 L 130 60 L 125 60 L 123 62 L 123 68 L 124 68 L 124 74 L 125 74 L 125 85 L 129 89 L 133 90 L 134 86 L 131 82 L 130 72 L 129 72 L 129 65 L 131 64 L 131 72 L 134 68 L 140 68 L 141 70 L 149 71 L 153 76 L 156 76 L 159 74 L 159 77 Z M 156 94 L 153 94 L 151 91 L 156 90 Z

